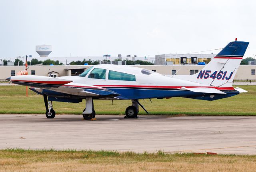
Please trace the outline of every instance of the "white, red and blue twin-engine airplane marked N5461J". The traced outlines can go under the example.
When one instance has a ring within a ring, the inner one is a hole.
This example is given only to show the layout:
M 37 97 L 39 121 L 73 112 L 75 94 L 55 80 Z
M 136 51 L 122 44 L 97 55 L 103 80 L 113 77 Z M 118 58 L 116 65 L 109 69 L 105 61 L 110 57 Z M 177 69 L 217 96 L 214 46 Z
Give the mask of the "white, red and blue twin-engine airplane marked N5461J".
M 164 76 L 151 70 L 119 65 L 95 65 L 79 76 L 21 75 L 6 80 L 31 86 L 44 96 L 46 117 L 54 118 L 52 101 L 79 103 L 86 100 L 84 119 L 95 117 L 93 100 L 132 100 L 127 118 L 136 118 L 140 99 L 184 97 L 218 100 L 246 92 L 233 88 L 232 81 L 248 47 L 248 42 L 234 41 L 220 51 L 208 65 L 194 75 Z M 147 112 L 147 111 L 146 111 Z M 147 112 L 148 113 L 148 112 Z

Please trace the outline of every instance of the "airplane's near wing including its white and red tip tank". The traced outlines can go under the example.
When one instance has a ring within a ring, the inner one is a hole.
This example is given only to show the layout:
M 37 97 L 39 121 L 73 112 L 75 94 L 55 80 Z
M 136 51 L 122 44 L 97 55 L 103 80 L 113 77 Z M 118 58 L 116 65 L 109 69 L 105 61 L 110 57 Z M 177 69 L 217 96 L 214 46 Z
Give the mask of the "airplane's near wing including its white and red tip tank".
M 14 84 L 31 86 L 30 90 L 38 94 L 47 94 L 48 96 L 74 96 L 74 97 L 111 97 L 120 96 L 120 94 L 106 88 L 92 86 L 88 84 L 74 83 L 72 80 L 52 78 L 48 76 L 19 75 L 7 78 Z M 55 94 L 57 92 L 58 94 Z

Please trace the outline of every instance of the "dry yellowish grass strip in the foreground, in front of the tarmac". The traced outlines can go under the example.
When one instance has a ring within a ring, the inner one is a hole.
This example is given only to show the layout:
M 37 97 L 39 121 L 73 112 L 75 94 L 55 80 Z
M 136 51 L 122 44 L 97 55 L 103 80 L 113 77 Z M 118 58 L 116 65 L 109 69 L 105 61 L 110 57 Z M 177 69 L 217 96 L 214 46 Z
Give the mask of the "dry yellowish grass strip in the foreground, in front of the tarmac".
M 256 156 L 6 149 L 0 150 L 0 167 L 0 172 L 253 172 Z

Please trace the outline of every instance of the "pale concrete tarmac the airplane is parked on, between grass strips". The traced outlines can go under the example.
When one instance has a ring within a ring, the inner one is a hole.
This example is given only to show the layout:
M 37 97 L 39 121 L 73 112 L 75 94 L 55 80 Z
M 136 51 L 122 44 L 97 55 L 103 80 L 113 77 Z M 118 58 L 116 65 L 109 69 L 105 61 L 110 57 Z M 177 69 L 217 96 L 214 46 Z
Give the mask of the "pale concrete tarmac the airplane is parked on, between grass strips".
M 256 117 L 0 115 L 0 149 L 256 154 Z

